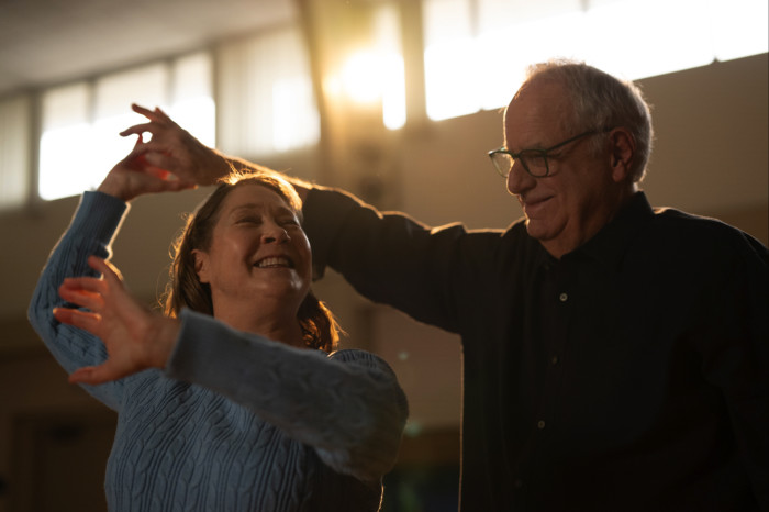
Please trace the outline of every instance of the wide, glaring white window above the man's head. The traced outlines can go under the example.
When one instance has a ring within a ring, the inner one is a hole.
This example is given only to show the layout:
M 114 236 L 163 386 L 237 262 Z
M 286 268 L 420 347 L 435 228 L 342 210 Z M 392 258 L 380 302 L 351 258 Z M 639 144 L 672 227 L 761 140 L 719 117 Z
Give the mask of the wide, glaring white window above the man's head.
M 766 53 L 766 0 L 424 0 L 427 115 L 508 103 L 527 65 L 584 60 L 639 79 Z

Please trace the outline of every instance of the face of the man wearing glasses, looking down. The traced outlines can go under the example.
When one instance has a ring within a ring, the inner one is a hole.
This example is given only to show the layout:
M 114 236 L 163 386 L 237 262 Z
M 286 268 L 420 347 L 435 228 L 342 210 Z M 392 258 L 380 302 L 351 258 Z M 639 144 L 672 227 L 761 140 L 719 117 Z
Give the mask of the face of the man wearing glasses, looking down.
M 565 133 L 562 119 L 571 112 L 564 87 L 530 84 L 505 111 L 504 141 L 509 151 L 544 149 L 579 132 Z M 590 240 L 616 209 L 617 185 L 612 180 L 608 151 L 591 151 L 591 135 L 548 154 L 549 175 L 534 178 L 515 160 L 508 190 L 521 202 L 528 234 L 555 257 Z

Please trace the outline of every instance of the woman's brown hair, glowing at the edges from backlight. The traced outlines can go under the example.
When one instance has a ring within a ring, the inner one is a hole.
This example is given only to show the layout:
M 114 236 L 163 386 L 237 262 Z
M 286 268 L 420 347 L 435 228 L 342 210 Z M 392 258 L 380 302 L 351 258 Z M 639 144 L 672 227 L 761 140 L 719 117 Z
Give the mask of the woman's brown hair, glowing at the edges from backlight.
M 235 171 L 220 179 L 216 189 L 187 218 L 187 223 L 171 246 L 169 282 L 163 298 L 164 312 L 177 318 L 182 308 L 213 315 L 211 289 L 200 282 L 194 269 L 193 249 L 209 251 L 213 227 L 224 198 L 237 186 L 257 183 L 277 192 L 302 220 L 302 201 L 293 187 L 268 169 Z M 299 307 L 297 320 L 308 347 L 331 353 L 339 340 L 339 327 L 331 311 L 312 291 Z

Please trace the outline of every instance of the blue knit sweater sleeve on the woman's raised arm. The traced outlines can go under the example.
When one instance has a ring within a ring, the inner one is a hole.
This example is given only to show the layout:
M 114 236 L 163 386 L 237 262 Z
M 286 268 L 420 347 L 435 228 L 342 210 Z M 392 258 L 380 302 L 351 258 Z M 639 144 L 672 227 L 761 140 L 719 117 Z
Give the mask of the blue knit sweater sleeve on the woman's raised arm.
M 30 323 L 56 360 L 71 374 L 76 369 L 99 365 L 107 359 L 103 343 L 86 331 L 62 324 L 54 318 L 57 307 L 69 307 L 58 296 L 58 287 L 66 277 L 97 276 L 88 266 L 88 257 L 109 258 L 112 241 L 129 207 L 101 192 L 83 193 L 69 227 L 54 247 L 46 263 L 27 310 Z M 94 398 L 118 410 L 122 382 L 85 386 Z

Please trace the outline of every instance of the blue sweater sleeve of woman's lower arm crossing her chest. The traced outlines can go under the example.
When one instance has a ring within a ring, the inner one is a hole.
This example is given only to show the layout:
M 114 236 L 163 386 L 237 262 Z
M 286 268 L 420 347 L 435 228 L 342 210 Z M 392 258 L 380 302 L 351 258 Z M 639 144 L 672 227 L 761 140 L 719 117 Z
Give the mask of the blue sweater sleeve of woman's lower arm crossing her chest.
M 248 408 L 337 472 L 376 481 L 394 465 L 408 404 L 393 371 L 372 354 L 328 356 L 183 310 L 166 372 Z

